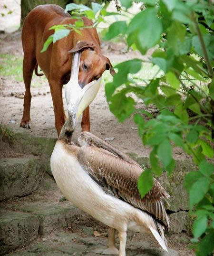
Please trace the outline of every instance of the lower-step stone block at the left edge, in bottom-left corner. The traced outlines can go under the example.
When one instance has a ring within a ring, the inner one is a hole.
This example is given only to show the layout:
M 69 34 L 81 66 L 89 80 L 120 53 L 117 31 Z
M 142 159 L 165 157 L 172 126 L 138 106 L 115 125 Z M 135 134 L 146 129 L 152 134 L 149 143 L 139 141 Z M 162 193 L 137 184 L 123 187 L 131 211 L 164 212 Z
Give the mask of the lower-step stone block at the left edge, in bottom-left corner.
M 0 255 L 28 245 L 38 237 L 39 218 L 29 213 L 0 211 Z

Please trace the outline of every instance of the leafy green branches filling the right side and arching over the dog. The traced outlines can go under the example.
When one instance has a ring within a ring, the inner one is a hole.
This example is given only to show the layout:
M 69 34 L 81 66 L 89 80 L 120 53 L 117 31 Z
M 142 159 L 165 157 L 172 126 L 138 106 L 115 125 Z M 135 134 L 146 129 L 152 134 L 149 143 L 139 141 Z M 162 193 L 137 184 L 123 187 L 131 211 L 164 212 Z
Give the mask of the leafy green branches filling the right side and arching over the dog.
M 44 45 L 68 35 L 70 30 L 81 33 L 82 16 L 92 19 L 97 26 L 110 15 L 125 20 L 112 23 L 105 40 L 123 36 L 127 47 L 144 55 L 155 50 L 146 63 L 159 67 L 150 80 L 135 74 L 144 70 L 145 61 L 139 54 L 117 64 L 113 81 L 106 84 L 106 97 L 112 113 L 123 122 L 134 113 L 139 139 L 151 147 L 151 168 L 142 173 L 138 181 L 141 196 L 153 186 L 153 176 L 175 168 L 173 148 L 180 147 L 193 157 L 198 171 L 189 171 L 185 189 L 189 193 L 190 214 L 196 216 L 193 225 L 192 247 L 197 256 L 211 255 L 214 249 L 214 6 L 209 0 L 143 0 L 141 11 L 131 13 L 132 0 L 120 0 L 117 11 L 108 12 L 108 1 L 103 5 L 68 4 L 66 11 L 76 16 L 73 25 L 55 26 L 55 33 Z M 201 84 L 203 86 L 201 86 Z M 154 118 L 146 110 L 137 109 L 133 93 L 146 106 L 159 109 Z M 189 113 L 192 113 L 191 116 Z M 145 116 L 149 118 L 146 121 Z

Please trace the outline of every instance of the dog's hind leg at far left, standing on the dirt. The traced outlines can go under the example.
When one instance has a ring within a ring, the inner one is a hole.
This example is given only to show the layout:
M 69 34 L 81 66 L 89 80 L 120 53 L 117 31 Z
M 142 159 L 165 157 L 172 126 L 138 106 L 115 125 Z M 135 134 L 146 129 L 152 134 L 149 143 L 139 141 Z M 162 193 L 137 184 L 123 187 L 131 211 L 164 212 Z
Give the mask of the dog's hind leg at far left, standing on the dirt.
M 20 127 L 30 128 L 30 83 L 33 75 L 33 70 L 36 66 L 36 57 L 34 53 L 24 53 L 23 59 L 23 79 L 25 84 L 25 96 L 24 96 L 24 110 L 23 117 L 21 119 Z

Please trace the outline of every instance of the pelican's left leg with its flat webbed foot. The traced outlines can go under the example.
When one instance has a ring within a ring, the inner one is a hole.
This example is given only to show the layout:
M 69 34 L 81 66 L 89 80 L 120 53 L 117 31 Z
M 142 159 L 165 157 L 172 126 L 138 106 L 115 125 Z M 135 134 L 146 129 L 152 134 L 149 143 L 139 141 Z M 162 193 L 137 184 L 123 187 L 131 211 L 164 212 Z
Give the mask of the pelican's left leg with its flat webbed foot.
M 101 253 L 101 254 L 106 254 L 106 255 L 118 255 L 119 251 L 115 246 L 115 233 L 116 229 L 110 227 L 108 231 L 108 241 L 107 241 L 107 248 L 105 247 L 99 247 L 93 252 L 95 253 Z

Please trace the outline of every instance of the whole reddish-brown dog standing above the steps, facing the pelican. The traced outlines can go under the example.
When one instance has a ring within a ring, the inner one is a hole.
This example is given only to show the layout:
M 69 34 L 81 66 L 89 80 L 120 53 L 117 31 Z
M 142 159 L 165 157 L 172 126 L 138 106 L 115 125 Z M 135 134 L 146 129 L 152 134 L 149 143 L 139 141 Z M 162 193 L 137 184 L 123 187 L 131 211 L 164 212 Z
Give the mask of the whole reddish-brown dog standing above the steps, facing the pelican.
M 93 80 L 97 80 L 106 69 L 113 75 L 114 70 L 107 57 L 102 55 L 97 31 L 94 28 L 81 30 L 81 35 L 72 31 L 68 37 L 56 43 L 51 43 L 46 52 L 40 53 L 53 30 L 49 28 L 58 24 L 74 23 L 68 13 L 55 4 L 39 5 L 29 12 L 22 28 L 22 46 L 24 52 L 23 78 L 25 83 L 24 111 L 20 127 L 30 128 L 30 83 L 33 71 L 38 74 L 38 65 L 47 77 L 53 100 L 55 126 L 58 135 L 65 122 L 62 102 L 62 85 L 70 78 L 72 55 L 83 51 L 79 67 L 78 82 L 84 87 Z M 83 18 L 85 26 L 93 25 L 92 21 Z M 78 43 L 80 41 L 80 43 Z M 89 107 L 83 112 L 82 131 L 90 130 Z

